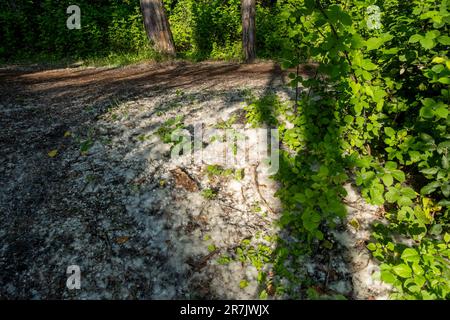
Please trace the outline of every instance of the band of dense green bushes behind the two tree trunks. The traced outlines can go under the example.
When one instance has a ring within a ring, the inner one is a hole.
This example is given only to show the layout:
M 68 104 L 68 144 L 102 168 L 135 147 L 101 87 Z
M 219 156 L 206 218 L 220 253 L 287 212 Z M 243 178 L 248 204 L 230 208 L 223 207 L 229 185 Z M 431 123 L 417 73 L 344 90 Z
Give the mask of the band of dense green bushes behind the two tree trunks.
M 260 57 L 280 56 L 288 37 L 277 18 L 284 1 L 257 1 Z M 81 30 L 68 30 L 69 0 L 0 3 L 0 59 L 98 57 L 150 52 L 139 0 L 80 0 Z M 240 0 L 165 0 L 181 57 L 240 59 Z

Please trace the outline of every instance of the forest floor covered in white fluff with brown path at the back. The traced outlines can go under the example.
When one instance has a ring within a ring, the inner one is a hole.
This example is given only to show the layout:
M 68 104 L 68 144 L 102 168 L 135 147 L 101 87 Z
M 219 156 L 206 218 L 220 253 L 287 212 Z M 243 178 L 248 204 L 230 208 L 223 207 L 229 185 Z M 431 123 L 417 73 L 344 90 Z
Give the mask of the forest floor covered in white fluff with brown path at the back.
M 173 127 L 248 128 L 248 96 L 289 100 L 286 78 L 267 62 L 0 69 L 0 298 L 289 298 L 261 288 L 270 263 L 236 258 L 243 241 L 272 248 L 282 234 L 264 161 L 183 162 L 164 141 Z M 386 298 L 365 248 L 379 208 L 346 188 L 332 255 L 298 273 L 350 299 Z M 70 265 L 80 290 L 66 288 Z

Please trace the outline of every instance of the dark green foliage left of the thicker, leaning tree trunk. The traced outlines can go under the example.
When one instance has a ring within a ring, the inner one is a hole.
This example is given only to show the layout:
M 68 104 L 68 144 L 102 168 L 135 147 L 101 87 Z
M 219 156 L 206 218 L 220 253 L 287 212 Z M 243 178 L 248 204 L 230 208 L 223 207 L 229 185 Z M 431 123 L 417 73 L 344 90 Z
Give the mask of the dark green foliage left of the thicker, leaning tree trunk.
M 80 0 L 76 3 L 81 8 L 80 30 L 66 27 L 66 9 L 72 4 L 69 0 L 22 0 L 14 5 L 2 1 L 0 59 L 98 59 L 121 54 L 142 59 L 152 52 L 139 1 Z

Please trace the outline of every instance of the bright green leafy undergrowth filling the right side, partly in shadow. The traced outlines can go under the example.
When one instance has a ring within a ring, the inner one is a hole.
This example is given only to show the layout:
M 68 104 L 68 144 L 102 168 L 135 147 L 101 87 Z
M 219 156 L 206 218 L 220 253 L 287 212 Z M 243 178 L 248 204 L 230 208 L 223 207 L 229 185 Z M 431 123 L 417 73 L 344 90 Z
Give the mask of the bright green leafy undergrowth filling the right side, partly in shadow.
M 367 26 L 370 4 L 381 8 L 381 29 Z M 345 216 L 342 185 L 354 176 L 387 211 L 389 225 L 375 227 L 369 249 L 396 288 L 392 298 L 448 299 L 449 3 L 283 1 L 278 19 L 289 38 L 284 66 L 318 63 L 314 77 L 290 75 L 306 90 L 295 114 L 281 111 L 294 126 L 280 125 L 288 147 L 276 176 L 280 224 L 313 250 Z M 266 97 L 247 117 L 276 125 L 279 109 Z M 283 261 L 302 254 L 295 250 L 285 242 L 277 250 L 287 278 Z

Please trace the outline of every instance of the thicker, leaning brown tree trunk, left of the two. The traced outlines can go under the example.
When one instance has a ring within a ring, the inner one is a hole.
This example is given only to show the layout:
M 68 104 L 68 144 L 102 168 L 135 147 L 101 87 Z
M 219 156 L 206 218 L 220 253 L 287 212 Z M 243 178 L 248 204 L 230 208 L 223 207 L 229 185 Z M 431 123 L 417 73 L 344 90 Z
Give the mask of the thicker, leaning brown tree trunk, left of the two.
M 147 36 L 155 46 L 156 51 L 163 54 L 175 55 L 172 32 L 162 0 L 140 0 L 144 16 Z

